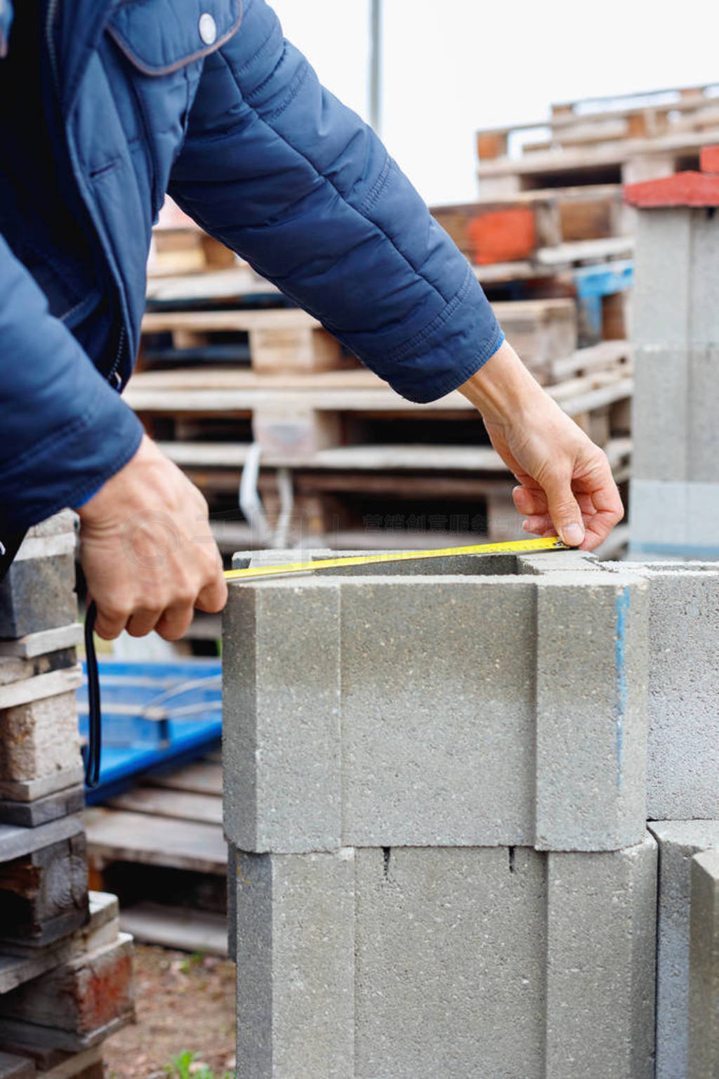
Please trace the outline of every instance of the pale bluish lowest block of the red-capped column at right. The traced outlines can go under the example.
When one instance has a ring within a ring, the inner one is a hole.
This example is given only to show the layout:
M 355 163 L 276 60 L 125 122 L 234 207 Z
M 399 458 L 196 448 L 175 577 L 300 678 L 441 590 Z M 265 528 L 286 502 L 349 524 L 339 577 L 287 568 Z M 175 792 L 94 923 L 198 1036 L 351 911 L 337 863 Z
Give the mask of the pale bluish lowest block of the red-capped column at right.
M 719 558 L 719 482 L 631 482 L 632 558 Z

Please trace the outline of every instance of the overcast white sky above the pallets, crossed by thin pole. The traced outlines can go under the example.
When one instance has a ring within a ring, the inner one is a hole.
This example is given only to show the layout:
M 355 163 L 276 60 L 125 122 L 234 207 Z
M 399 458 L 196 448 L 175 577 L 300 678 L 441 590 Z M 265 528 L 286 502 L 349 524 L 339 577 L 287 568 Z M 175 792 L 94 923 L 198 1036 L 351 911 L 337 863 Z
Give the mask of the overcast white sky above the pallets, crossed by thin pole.
M 367 117 L 369 0 L 271 0 L 322 82 Z M 430 203 L 476 197 L 473 133 L 551 101 L 719 82 L 717 0 L 384 0 L 389 150 Z

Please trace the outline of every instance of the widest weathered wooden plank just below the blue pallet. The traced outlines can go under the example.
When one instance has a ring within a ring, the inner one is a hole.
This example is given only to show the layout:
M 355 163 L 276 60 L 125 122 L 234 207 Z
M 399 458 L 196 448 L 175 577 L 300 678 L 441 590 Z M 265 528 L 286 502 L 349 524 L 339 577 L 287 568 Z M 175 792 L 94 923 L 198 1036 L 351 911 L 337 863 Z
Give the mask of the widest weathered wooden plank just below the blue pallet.
M 169 865 L 224 875 L 227 846 L 219 824 L 170 820 L 120 809 L 89 809 L 85 815 L 91 859 Z

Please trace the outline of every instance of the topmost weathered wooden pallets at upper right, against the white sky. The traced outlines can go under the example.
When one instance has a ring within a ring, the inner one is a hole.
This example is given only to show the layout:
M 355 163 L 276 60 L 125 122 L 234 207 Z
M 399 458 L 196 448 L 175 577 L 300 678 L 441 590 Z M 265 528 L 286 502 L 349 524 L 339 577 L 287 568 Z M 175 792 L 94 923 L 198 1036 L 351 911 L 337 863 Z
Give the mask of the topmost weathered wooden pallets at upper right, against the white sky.
M 563 101 L 548 121 L 478 132 L 480 195 L 632 183 L 696 168 L 701 147 L 719 136 L 717 88 Z

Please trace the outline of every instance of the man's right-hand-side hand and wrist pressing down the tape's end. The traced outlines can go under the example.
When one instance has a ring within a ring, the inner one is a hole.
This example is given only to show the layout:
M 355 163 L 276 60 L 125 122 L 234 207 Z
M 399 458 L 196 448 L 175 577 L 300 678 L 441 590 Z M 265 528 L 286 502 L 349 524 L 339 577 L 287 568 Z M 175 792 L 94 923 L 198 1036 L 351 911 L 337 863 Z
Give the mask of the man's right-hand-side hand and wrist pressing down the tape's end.
M 527 532 L 592 550 L 624 516 L 606 454 L 544 393 L 504 342 L 459 387 L 514 473 L 514 505 Z

